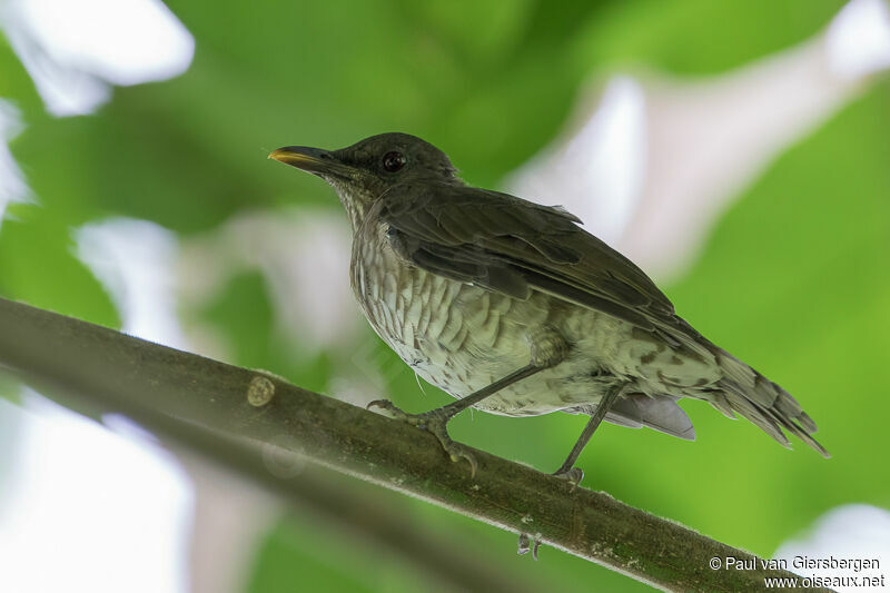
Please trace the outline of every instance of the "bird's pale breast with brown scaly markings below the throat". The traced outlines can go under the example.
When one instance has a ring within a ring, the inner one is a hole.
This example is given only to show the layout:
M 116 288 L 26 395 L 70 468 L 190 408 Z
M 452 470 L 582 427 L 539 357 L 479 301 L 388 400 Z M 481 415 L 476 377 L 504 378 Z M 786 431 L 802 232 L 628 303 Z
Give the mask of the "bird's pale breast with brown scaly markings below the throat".
M 514 299 L 427 273 L 400 258 L 383 229 L 363 230 L 353 244 L 353 291 L 375 332 L 421 376 L 465 395 L 527 364 Z

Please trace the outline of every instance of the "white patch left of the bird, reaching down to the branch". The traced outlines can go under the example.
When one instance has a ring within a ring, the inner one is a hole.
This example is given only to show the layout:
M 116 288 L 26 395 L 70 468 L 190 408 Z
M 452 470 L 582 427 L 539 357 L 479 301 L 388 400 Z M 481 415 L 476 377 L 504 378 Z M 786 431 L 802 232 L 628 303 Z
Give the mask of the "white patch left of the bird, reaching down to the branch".
M 75 231 L 77 257 L 115 303 L 127 334 L 171 347 L 187 340 L 177 318 L 176 235 L 155 223 L 110 218 Z

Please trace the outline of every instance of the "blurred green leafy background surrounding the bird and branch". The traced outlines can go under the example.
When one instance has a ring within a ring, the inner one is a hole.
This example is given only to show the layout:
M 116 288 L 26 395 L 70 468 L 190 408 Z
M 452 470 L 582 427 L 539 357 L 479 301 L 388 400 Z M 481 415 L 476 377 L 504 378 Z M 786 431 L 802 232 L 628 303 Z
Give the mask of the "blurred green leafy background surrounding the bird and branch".
M 265 160 L 269 149 L 340 147 L 405 130 L 448 151 L 464 178 L 496 186 L 562 128 L 581 85 L 617 68 L 709 75 L 818 31 L 839 1 L 168 2 L 195 36 L 176 79 L 119 88 L 97 115 L 48 116 L 0 45 L 0 96 L 22 111 L 12 145 L 37 199 L 0 231 L 0 294 L 117 326 L 101 285 L 72 255 L 71 229 L 109 215 L 190 236 L 244 209 L 339 209 L 317 179 Z M 769 556 L 827 510 L 890 506 L 890 86 L 878 83 L 749 187 L 681 281 L 679 312 L 714 342 L 797 394 L 834 458 L 789 453 L 745 423 L 686 405 L 699 442 L 606 427 L 581 458 L 589 487 Z M 345 220 L 345 217 L 344 217 Z M 346 274 L 346 270 L 332 270 Z M 325 278 L 317 278 L 324 283 Z M 312 286 L 305 287 L 312 290 Z M 267 290 L 240 276 L 197 315 L 238 344 L 231 362 L 326 391 L 329 357 L 277 353 Z M 368 329 L 368 334 L 369 334 Z M 370 338 L 368 338 L 370 339 Z M 375 342 L 375 344 L 377 344 Z M 407 367 L 388 389 L 408 409 Z M 583 419 L 465 415 L 455 438 L 552 471 Z M 512 535 L 423 503 L 367 491 L 418 530 L 467 542 L 504 571 L 560 591 L 643 591 L 623 576 L 543 550 L 515 555 Z M 332 535 L 310 517 L 270 531 L 253 592 L 409 591 L 416 575 Z

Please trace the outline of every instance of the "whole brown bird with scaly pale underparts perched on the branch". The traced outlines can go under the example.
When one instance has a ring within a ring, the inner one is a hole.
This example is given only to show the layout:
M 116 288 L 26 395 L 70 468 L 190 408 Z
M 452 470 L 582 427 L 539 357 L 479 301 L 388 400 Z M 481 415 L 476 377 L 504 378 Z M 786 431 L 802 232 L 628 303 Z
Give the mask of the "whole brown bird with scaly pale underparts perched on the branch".
M 433 433 L 473 475 L 475 456 L 447 432 L 468 407 L 589 415 L 554 472 L 575 485 L 602 421 L 694 441 L 682 398 L 738 414 L 790 448 L 787 431 L 829 457 L 791 394 L 696 332 L 565 208 L 472 187 L 445 152 L 408 134 L 337 150 L 287 146 L 269 158 L 334 188 L 352 227 L 352 288 L 370 326 L 456 398 L 421 414 L 387 399 L 368 407 Z

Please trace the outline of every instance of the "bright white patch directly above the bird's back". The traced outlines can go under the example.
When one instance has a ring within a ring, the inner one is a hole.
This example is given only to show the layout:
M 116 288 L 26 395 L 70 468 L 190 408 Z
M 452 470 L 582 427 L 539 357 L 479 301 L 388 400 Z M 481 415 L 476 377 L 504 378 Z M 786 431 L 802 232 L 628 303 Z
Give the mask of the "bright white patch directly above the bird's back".
M 585 119 L 567 141 L 545 149 L 506 185 L 526 199 L 565 206 L 593 234 L 613 241 L 633 216 L 645 172 L 643 89 L 633 78 L 613 78 Z

